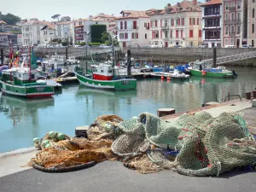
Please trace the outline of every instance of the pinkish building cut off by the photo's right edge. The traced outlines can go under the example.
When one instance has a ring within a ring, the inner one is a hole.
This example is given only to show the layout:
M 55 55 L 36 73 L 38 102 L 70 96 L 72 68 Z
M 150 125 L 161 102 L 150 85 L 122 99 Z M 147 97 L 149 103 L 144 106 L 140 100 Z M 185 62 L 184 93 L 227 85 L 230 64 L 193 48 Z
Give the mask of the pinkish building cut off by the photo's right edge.
M 256 47 L 256 1 L 247 1 L 247 44 Z

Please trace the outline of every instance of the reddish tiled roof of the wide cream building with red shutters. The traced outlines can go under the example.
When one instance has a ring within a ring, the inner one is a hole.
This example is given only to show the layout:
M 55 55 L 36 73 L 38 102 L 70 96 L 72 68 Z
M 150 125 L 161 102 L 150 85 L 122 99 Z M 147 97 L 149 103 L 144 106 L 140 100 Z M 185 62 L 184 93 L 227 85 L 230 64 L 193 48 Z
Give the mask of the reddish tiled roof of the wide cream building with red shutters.
M 183 0 L 180 3 L 176 3 L 175 5 L 171 5 L 170 3 L 166 6 L 165 9 L 149 9 L 148 15 L 163 15 L 167 14 L 175 14 L 177 12 L 201 12 L 201 3 L 198 2 L 194 5 L 193 1 Z

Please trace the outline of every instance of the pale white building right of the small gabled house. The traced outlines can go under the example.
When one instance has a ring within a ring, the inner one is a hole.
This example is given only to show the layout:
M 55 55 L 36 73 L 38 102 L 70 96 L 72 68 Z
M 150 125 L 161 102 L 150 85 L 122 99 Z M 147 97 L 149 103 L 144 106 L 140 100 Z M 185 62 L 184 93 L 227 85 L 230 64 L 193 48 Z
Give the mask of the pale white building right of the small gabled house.
M 65 42 L 73 42 L 73 22 L 59 22 L 55 24 L 55 38 Z

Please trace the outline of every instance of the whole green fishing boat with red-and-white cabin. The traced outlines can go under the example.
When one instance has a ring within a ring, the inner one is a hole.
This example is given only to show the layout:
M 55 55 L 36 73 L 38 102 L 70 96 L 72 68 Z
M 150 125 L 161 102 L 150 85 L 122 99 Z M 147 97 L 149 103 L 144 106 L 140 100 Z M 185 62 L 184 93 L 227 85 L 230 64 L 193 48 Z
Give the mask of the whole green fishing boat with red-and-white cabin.
M 91 65 L 91 71 L 91 74 L 84 73 L 83 68 L 76 67 L 74 73 L 80 84 L 90 88 L 102 90 L 135 90 L 137 88 L 137 79 L 114 76 L 113 66 L 107 63 Z

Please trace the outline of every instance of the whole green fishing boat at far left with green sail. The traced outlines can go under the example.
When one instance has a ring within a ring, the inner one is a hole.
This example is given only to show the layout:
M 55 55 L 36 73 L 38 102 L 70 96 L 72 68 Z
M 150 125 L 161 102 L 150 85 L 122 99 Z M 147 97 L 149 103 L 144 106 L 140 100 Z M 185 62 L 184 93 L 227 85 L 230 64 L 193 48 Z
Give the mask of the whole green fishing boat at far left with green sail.
M 20 67 L 12 67 L 3 70 L 0 80 L 3 93 L 12 96 L 23 96 L 27 98 L 48 97 L 54 94 L 54 87 L 46 83 L 37 83 L 38 71 L 35 70 L 37 59 L 34 52 L 29 49 L 29 65 L 25 67 L 23 60 Z

